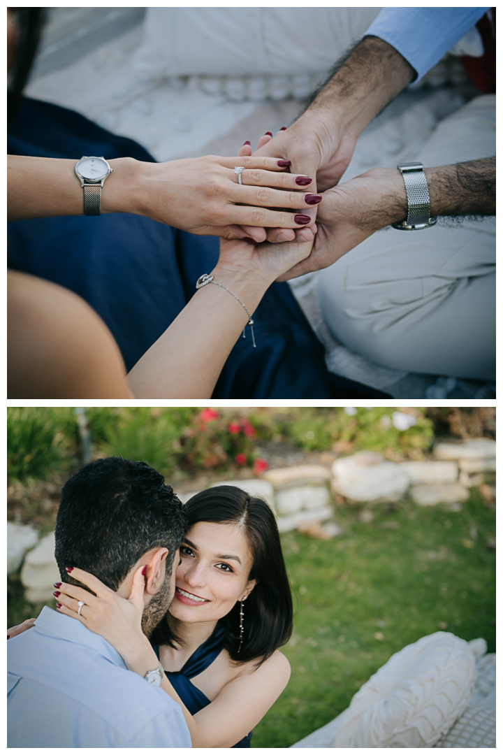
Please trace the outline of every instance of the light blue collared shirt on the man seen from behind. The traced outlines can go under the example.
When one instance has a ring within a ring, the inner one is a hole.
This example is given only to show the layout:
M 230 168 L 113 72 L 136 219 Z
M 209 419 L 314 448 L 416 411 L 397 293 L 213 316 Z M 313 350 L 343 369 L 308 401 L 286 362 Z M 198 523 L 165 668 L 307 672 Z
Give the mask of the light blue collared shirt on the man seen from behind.
M 47 606 L 8 640 L 8 747 L 191 747 L 182 709 Z

